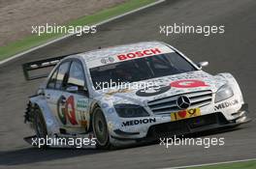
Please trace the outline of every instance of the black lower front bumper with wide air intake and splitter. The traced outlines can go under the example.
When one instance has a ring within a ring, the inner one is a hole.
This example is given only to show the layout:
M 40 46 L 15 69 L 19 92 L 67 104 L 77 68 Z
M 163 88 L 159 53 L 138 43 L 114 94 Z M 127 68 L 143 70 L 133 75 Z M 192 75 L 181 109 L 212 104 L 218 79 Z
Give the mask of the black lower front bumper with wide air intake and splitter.
M 147 134 L 144 138 L 133 138 L 133 136 L 139 135 L 140 132 L 125 132 L 116 129 L 114 132 L 118 136 L 112 136 L 112 138 L 120 141 L 136 140 L 140 142 L 144 140 L 155 140 L 160 137 L 193 134 L 216 128 L 238 127 L 241 124 L 249 123 L 251 121 L 248 117 L 248 113 L 248 105 L 242 104 L 240 110 L 232 114 L 234 119 L 231 121 L 228 121 L 221 112 L 216 112 L 176 122 L 153 125 L 148 128 Z

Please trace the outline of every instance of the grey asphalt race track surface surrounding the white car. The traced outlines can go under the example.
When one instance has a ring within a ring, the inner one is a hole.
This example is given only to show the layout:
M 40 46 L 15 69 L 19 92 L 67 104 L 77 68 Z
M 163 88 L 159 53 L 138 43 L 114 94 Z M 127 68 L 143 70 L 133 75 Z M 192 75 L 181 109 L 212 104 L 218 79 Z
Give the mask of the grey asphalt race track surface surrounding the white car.
M 38 150 L 22 138 L 32 131 L 23 124 L 27 97 L 42 80 L 26 82 L 20 65 L 39 58 L 128 42 L 158 40 L 169 42 L 193 61 L 209 61 L 206 69 L 215 74 L 232 72 L 238 81 L 251 117 L 255 118 L 255 0 L 167 1 L 100 27 L 93 36 L 73 37 L 33 51 L 0 67 L 0 168 L 161 168 L 256 157 L 256 124 L 237 130 L 210 134 L 225 137 L 225 146 L 205 149 L 199 146 L 158 144 L 117 151 Z M 225 33 L 203 35 L 159 34 L 159 25 L 174 23 L 225 25 Z

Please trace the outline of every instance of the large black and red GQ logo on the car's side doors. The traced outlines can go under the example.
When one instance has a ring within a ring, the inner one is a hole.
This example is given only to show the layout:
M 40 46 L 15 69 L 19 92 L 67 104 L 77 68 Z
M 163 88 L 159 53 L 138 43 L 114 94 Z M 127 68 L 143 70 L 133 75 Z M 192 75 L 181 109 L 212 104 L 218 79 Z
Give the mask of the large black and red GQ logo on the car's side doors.
M 67 119 L 72 125 L 78 125 L 76 120 L 75 99 L 70 96 L 66 103 L 61 103 L 62 97 L 57 102 L 58 117 L 63 125 L 67 125 Z

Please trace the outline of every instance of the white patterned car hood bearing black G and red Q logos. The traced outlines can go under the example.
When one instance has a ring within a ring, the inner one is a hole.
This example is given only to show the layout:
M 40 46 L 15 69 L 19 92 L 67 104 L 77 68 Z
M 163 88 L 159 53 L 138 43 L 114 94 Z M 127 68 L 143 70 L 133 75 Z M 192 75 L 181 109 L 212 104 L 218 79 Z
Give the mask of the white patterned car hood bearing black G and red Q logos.
M 116 89 L 104 89 L 98 92 L 101 99 L 112 99 L 118 103 L 141 102 L 140 104 L 142 104 L 154 99 L 191 92 L 210 90 L 215 93 L 226 82 L 225 78 L 197 70 L 134 82 L 130 83 L 128 87 L 118 86 Z

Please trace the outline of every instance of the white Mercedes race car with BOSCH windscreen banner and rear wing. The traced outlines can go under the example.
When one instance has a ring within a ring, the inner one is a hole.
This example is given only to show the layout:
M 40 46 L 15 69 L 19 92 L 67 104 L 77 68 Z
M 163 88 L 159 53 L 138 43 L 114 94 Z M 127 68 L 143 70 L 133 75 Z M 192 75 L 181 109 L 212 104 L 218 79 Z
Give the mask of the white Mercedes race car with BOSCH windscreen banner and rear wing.
M 230 73 L 211 75 L 164 42 L 139 42 L 23 65 L 54 69 L 29 99 L 33 138 L 94 138 L 100 148 L 249 122 Z M 46 144 L 46 142 L 44 142 Z

